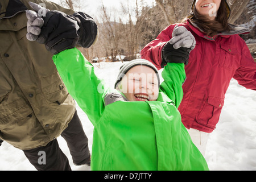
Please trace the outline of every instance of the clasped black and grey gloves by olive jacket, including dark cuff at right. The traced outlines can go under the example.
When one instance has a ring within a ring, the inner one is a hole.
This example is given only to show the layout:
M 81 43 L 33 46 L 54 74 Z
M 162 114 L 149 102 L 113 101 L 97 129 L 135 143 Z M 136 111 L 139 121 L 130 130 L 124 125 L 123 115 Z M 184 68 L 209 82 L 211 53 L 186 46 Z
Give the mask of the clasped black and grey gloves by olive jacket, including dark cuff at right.
M 27 39 L 46 44 L 46 49 L 52 54 L 74 48 L 76 44 L 88 48 L 96 40 L 97 24 L 89 15 L 84 13 L 67 15 L 56 10 L 49 11 L 32 2 L 30 6 L 36 13 L 27 11 Z M 44 12 L 42 18 L 39 12 Z

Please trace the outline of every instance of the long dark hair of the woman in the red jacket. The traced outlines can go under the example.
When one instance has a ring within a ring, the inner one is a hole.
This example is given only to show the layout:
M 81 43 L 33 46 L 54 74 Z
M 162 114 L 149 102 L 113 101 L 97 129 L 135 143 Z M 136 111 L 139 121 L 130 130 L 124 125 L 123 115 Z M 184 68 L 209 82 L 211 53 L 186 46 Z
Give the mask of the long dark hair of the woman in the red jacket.
M 209 36 L 217 35 L 223 31 L 230 31 L 231 29 L 228 24 L 228 11 L 224 0 L 220 3 L 215 20 L 209 20 L 207 17 L 200 15 L 196 10 L 196 6 L 193 7 L 193 13 L 189 14 L 187 18 L 197 24 Z

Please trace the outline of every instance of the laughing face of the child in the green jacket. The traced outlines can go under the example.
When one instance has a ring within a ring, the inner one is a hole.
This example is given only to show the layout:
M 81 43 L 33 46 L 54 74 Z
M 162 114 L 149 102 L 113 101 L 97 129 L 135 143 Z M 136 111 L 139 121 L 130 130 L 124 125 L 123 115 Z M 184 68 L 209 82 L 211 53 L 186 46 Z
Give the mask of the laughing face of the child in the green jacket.
M 119 89 L 128 101 L 156 101 L 159 93 L 158 76 L 152 68 L 137 65 L 122 78 Z

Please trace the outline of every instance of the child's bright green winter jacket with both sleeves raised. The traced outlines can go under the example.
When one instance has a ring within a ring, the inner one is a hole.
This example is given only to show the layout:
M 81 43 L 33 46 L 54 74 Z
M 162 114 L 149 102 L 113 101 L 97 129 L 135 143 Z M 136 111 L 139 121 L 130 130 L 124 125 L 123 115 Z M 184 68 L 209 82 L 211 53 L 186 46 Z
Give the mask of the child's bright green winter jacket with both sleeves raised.
M 93 123 L 92 170 L 208 170 L 177 110 L 184 64 L 164 67 L 158 101 L 129 102 L 106 88 L 78 49 L 60 52 L 53 61 Z

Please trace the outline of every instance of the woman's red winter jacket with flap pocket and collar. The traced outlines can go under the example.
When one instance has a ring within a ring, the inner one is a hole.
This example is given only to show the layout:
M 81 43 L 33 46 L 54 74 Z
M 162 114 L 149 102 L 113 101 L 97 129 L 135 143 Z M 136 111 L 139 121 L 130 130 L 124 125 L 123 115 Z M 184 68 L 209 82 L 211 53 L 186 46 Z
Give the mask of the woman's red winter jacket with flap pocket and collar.
M 245 41 L 238 34 L 249 33 L 246 28 L 233 26 L 233 31 L 211 38 L 190 20 L 177 23 L 191 31 L 196 47 L 185 66 L 187 80 L 183 84 L 183 100 L 179 106 L 182 122 L 193 128 L 211 133 L 218 123 L 229 82 L 232 78 L 247 89 L 256 90 L 256 63 Z M 161 68 L 162 48 L 172 38 L 176 24 L 164 29 L 141 51 L 141 57 Z

